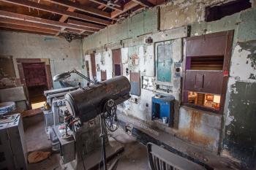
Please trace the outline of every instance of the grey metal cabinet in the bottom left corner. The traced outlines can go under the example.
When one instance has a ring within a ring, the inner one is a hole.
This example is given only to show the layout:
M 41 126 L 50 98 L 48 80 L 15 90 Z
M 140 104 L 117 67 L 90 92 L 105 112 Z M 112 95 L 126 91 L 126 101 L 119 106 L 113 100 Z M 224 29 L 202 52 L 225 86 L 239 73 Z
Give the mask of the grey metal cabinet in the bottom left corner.
M 27 169 L 27 150 L 20 114 L 0 118 L 0 169 Z

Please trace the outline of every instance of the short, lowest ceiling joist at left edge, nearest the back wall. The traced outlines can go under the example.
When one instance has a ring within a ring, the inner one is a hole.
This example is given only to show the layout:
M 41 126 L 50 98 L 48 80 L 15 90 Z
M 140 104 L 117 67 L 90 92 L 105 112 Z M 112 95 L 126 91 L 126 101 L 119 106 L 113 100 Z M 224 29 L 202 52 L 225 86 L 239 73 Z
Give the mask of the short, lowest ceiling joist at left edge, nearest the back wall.
M 54 31 L 61 31 L 61 28 L 57 26 L 48 26 L 41 23 L 30 23 L 23 20 L 13 20 L 10 18 L 0 18 L 0 23 L 10 23 L 18 26 L 29 26 L 29 27 L 35 27 L 35 28 L 45 28 L 45 29 L 50 29 Z

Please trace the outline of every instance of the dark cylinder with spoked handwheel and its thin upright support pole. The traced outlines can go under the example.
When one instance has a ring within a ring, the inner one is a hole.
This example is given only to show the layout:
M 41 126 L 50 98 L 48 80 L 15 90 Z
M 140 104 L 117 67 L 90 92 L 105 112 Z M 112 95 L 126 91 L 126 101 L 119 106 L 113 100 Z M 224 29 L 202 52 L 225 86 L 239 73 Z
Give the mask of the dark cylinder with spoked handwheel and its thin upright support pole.
M 87 88 L 78 88 L 65 95 L 67 109 L 65 115 L 67 127 L 72 131 L 79 129 L 83 123 L 100 115 L 102 139 L 102 161 L 106 166 L 105 128 L 116 131 L 119 122 L 116 116 L 116 105 L 129 99 L 131 85 L 127 77 L 119 76 L 110 80 L 99 82 Z

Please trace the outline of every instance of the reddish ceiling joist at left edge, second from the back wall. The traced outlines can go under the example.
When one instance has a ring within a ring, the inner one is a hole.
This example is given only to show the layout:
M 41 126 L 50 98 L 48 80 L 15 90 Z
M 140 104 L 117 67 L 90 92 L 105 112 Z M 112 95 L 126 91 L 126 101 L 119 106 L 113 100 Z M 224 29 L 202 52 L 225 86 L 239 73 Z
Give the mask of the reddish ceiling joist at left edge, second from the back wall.
M 2 18 L 10 18 L 10 19 L 15 19 L 15 20 L 24 20 L 28 21 L 31 23 L 42 23 L 48 26 L 59 26 L 61 27 L 61 30 L 64 30 L 65 28 L 71 28 L 71 29 L 77 29 L 80 31 L 89 31 L 89 32 L 95 32 L 98 31 L 98 29 L 95 28 L 88 28 L 84 26 L 74 26 L 70 25 L 68 23 L 61 23 L 59 21 L 55 20 L 46 20 L 42 18 L 36 18 L 36 17 L 31 17 L 29 15 L 22 15 L 22 14 L 17 14 L 13 12 L 7 12 L 7 11 L 2 11 L 0 10 L 0 17 Z

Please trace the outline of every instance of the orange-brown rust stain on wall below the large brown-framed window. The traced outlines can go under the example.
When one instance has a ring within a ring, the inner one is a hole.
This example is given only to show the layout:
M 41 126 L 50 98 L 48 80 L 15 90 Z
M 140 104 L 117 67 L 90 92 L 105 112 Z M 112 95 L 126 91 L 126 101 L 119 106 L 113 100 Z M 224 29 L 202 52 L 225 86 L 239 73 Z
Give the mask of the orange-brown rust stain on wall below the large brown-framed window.
M 212 139 L 204 134 L 200 134 L 200 132 L 196 131 L 196 128 L 200 128 L 202 113 L 194 111 L 194 110 L 189 111 L 188 113 L 191 115 L 189 128 L 181 129 L 178 134 L 189 139 L 189 141 L 203 144 L 204 146 L 211 144 L 211 142 L 213 142 L 214 139 Z

